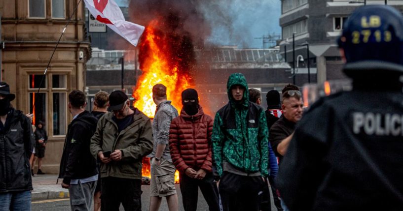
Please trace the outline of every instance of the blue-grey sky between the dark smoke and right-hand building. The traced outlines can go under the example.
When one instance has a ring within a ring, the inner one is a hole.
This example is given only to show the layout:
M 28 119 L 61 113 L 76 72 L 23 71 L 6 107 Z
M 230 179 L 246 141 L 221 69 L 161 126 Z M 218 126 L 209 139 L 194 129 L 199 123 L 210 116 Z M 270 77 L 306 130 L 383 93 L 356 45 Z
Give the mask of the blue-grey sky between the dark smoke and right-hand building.
M 119 6 L 128 5 L 128 0 L 116 0 L 116 2 Z M 239 48 L 263 48 L 261 39 L 263 35 L 281 35 L 280 0 L 217 0 L 216 2 L 217 7 L 226 13 L 231 23 L 229 25 L 218 23 L 211 10 L 204 10 L 206 19 L 212 23 L 212 33 L 206 42 L 215 45 L 237 45 Z

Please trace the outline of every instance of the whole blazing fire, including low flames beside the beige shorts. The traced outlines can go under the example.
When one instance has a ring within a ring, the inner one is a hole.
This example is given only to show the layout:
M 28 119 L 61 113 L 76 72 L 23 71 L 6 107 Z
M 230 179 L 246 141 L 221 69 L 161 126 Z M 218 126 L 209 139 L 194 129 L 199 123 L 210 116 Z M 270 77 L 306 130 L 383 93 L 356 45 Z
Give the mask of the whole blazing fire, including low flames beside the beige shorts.
M 161 22 L 163 23 L 163 22 Z M 167 99 L 172 105 L 182 108 L 183 90 L 194 87 L 189 74 L 192 65 L 193 45 L 175 33 L 164 33 L 156 20 L 146 28 L 140 45 L 139 61 L 143 74 L 137 81 L 133 97 L 134 106 L 149 118 L 154 117 L 156 105 L 152 100 L 152 87 L 163 84 L 167 87 Z M 183 39 L 183 40 L 182 40 Z M 178 41 L 179 40 L 179 41 Z M 149 158 L 143 159 L 143 177 L 150 177 Z M 175 172 L 175 183 L 179 183 L 179 172 Z

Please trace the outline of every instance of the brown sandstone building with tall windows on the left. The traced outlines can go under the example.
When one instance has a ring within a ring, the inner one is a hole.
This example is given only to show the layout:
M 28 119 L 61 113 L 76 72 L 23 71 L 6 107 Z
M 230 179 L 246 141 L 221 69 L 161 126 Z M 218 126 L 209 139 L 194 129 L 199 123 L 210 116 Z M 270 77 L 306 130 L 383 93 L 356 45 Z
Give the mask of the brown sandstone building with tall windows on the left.
M 0 1 L 1 80 L 16 94 L 12 101 L 16 109 L 34 113 L 34 122 L 45 122 L 49 137 L 42 167 L 45 173 L 59 171 L 67 126 L 73 119 L 68 111 L 68 94 L 85 89 L 85 65 L 91 49 L 84 2 L 78 2 Z M 43 75 L 62 31 L 60 44 Z

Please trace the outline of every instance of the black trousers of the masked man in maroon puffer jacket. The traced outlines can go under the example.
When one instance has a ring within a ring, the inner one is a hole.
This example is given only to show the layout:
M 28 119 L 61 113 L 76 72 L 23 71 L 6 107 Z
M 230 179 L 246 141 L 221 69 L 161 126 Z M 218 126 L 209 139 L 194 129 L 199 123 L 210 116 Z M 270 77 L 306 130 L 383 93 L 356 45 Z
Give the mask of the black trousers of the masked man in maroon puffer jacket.
M 179 177 L 183 208 L 185 211 L 197 210 L 199 187 L 204 199 L 209 205 L 209 211 L 220 211 L 219 191 L 217 183 L 214 181 L 211 173 L 206 174 L 203 180 L 190 178 L 184 173 L 180 173 Z

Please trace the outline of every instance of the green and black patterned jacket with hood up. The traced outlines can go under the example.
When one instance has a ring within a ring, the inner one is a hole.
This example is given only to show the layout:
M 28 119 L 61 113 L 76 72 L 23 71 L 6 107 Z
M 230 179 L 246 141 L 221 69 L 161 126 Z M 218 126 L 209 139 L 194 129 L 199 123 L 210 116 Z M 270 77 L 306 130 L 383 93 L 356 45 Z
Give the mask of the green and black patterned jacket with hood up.
M 231 88 L 245 88 L 241 102 L 232 97 Z M 263 109 L 250 102 L 248 84 L 241 73 L 231 74 L 227 82 L 229 102 L 216 114 L 213 126 L 215 176 L 221 177 L 223 163 L 239 172 L 268 175 L 268 131 Z M 224 168 L 225 170 L 225 168 Z

